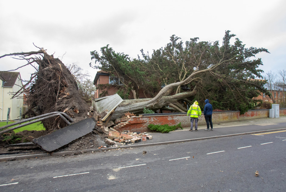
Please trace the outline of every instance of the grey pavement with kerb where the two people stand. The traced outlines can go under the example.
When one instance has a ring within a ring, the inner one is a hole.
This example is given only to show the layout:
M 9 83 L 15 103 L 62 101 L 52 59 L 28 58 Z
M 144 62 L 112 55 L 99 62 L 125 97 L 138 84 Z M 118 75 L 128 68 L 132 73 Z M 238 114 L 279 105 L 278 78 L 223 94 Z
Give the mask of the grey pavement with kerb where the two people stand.
M 251 119 L 244 121 L 235 121 L 228 123 L 219 123 L 213 125 L 213 131 L 205 131 L 206 125 L 198 126 L 198 131 L 189 131 L 190 128 L 178 129 L 169 133 L 148 133 L 153 136 L 151 140 L 141 141 L 138 143 L 132 143 L 131 145 L 125 145 L 119 147 L 102 148 L 102 149 L 88 149 L 82 151 L 64 151 L 50 153 L 38 153 L 38 154 L 13 154 L 13 155 L 0 155 L 0 161 L 9 161 L 15 159 L 24 158 L 38 158 L 45 156 L 56 155 L 68 155 L 77 153 L 88 153 L 96 151 L 107 151 L 118 148 L 135 148 L 135 147 L 147 147 L 153 145 L 173 144 L 180 142 L 190 142 L 195 140 L 214 139 L 219 137 L 232 137 L 245 134 L 263 133 L 270 131 L 286 130 L 286 116 L 280 118 L 263 118 L 263 119 Z

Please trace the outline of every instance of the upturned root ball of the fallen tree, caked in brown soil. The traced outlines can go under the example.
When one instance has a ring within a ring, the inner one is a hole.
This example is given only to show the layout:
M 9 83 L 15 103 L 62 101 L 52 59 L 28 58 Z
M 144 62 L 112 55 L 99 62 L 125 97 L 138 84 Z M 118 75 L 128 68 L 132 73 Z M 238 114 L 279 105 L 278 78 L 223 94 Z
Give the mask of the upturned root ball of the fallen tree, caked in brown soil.
M 17 56 L 18 59 L 26 60 L 26 65 L 32 65 L 36 69 L 36 72 L 31 74 L 30 80 L 13 95 L 14 98 L 20 93 L 29 91 L 27 95 L 28 110 L 23 116 L 30 118 L 60 111 L 72 117 L 74 122 L 85 119 L 89 106 L 78 93 L 78 86 L 71 72 L 60 59 L 48 55 L 43 48 L 39 49 L 35 52 L 11 53 L 0 56 L 0 58 Z M 67 126 L 67 123 L 59 117 L 44 120 L 42 123 L 47 132 Z

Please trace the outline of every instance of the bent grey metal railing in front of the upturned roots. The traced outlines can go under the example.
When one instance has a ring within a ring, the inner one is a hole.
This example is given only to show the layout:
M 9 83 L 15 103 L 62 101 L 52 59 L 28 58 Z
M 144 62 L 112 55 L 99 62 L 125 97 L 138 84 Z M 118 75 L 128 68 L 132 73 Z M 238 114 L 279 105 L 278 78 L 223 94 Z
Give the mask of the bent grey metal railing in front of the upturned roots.
M 2 131 L 0 131 L 0 134 L 7 133 L 7 132 L 12 131 L 14 129 L 18 129 L 20 127 L 23 127 L 23 126 L 26 126 L 26 125 L 30 125 L 30 124 L 33 124 L 33 123 L 36 123 L 36 122 L 39 122 L 39 121 L 42 121 L 42 120 L 45 120 L 45 119 L 49 119 L 49 118 L 55 117 L 55 116 L 60 116 L 65 121 L 65 123 L 67 123 L 68 125 L 70 125 L 71 122 L 72 123 L 74 122 L 73 119 L 70 116 L 68 116 L 66 113 L 57 111 L 57 112 L 46 113 L 44 115 L 39 115 L 39 116 L 36 116 L 36 117 L 31 117 L 29 119 L 23 119 L 22 121 L 18 121 L 18 122 L 15 122 L 15 123 L 11 123 L 9 125 L 2 126 L 2 127 L 0 127 L 0 130 L 2 130 Z M 27 121 L 30 121 L 30 122 L 27 122 Z M 27 122 L 27 123 L 25 123 L 25 122 Z M 21 123 L 24 123 L 24 124 L 18 125 L 18 124 L 21 124 Z M 6 129 L 7 127 L 11 127 L 11 126 L 14 126 L 14 125 L 18 125 L 18 126 L 12 127 L 10 129 Z M 3 130 L 3 129 L 5 129 L 5 130 Z

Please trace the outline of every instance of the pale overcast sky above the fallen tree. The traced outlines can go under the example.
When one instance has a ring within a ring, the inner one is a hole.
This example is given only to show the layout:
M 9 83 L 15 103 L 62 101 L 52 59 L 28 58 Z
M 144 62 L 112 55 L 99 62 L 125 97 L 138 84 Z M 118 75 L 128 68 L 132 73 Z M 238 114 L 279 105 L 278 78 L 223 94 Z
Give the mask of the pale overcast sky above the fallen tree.
M 267 48 L 262 53 L 264 72 L 286 69 L 285 0 L 116 0 L 116 1 L 0 1 L 0 55 L 47 49 L 67 66 L 77 63 L 89 71 L 91 51 L 110 44 L 131 58 L 140 50 L 152 52 L 175 34 L 182 41 L 222 41 L 231 30 L 246 47 Z M 234 40 L 234 38 L 233 38 Z M 0 59 L 0 70 L 26 62 Z M 33 68 L 20 70 L 28 79 Z

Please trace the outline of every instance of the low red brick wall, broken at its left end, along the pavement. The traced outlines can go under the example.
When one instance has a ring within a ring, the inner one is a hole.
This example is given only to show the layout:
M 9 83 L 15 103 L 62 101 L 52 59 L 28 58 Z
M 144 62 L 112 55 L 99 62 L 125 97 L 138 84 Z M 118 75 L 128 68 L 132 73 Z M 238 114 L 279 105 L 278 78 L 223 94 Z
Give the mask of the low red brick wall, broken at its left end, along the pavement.
M 280 116 L 286 116 L 286 109 L 280 109 Z M 260 119 L 269 117 L 269 109 L 262 110 L 249 110 L 243 115 L 240 115 L 239 111 L 231 112 L 213 112 L 212 122 L 217 123 L 226 123 L 232 121 L 242 121 L 250 119 Z M 128 124 L 116 128 L 118 131 L 129 130 L 131 132 L 146 132 L 149 131 L 147 126 L 149 124 L 159 124 L 164 125 L 168 124 L 169 126 L 177 125 L 181 123 L 182 127 L 190 127 L 190 117 L 187 115 L 162 115 L 162 116 L 145 116 L 145 117 L 131 117 L 128 121 Z M 206 125 L 204 115 L 199 118 L 198 125 Z

